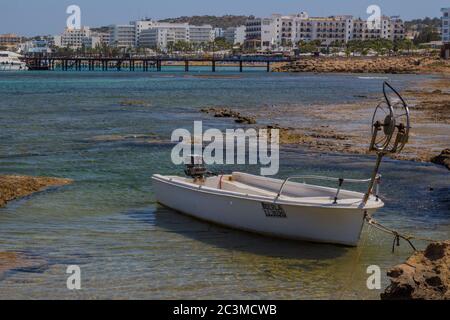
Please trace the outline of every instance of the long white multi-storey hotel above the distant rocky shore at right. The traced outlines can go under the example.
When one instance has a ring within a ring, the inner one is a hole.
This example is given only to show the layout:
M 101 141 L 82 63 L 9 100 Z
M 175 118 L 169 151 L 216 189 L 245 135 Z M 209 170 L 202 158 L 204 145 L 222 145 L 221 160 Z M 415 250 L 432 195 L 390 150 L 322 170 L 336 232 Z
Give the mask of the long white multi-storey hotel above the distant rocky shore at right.
M 255 49 L 292 47 L 299 41 L 320 40 L 322 44 L 346 43 L 350 40 L 388 39 L 405 37 L 399 17 L 382 17 L 381 28 L 371 30 L 365 20 L 350 15 L 309 17 L 306 12 L 270 18 L 250 18 L 246 23 L 246 46 Z

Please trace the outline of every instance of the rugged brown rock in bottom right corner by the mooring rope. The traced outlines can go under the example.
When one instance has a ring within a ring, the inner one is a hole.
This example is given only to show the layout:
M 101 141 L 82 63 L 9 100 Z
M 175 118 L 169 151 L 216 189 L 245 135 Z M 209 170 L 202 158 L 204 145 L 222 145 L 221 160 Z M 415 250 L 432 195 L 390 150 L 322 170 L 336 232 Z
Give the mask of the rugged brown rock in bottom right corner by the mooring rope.
M 388 272 L 382 300 L 450 300 L 450 241 L 430 244 Z

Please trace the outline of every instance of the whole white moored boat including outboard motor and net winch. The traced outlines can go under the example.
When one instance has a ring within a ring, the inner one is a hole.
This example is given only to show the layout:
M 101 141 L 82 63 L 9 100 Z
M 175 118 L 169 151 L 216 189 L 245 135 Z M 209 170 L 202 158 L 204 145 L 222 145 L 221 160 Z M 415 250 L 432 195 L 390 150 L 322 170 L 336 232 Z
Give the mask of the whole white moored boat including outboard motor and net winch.
M 153 176 L 159 203 L 192 217 L 258 234 L 294 240 L 357 246 L 364 221 L 384 206 L 379 198 L 382 157 L 400 152 L 408 141 L 409 110 L 400 97 L 375 111 L 370 150 L 377 162 L 370 179 L 295 176 L 285 180 L 241 172 L 208 176 L 202 161 L 192 157 L 187 177 Z M 400 113 L 399 113 L 400 110 Z M 293 180 L 334 180 L 329 188 Z M 343 190 L 348 183 L 368 183 L 367 193 Z

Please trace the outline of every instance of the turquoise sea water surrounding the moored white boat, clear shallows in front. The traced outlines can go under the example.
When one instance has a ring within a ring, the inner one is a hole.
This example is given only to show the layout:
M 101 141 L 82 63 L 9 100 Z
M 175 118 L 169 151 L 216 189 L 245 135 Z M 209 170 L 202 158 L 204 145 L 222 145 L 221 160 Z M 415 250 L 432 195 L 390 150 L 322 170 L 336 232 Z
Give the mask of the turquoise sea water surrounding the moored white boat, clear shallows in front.
M 389 78 L 399 88 L 421 79 Z M 203 107 L 248 111 L 357 102 L 355 96 L 379 94 L 382 81 L 257 69 L 215 76 L 202 68 L 189 74 L 176 68 L 0 74 L 0 174 L 75 180 L 0 209 L 0 252 L 23 252 L 37 261 L 34 268 L 0 279 L 0 299 L 378 298 L 380 291 L 366 288 L 367 267 L 379 265 L 385 273 L 410 254 L 406 244 L 392 254 L 392 239 L 374 230 L 365 230 L 360 248 L 343 248 L 216 227 L 158 206 L 150 178 L 182 174 L 171 163 L 172 145 L 166 143 L 175 128 L 192 128 L 194 120 L 207 127 L 234 126 L 200 113 Z M 284 148 L 280 157 L 279 177 L 365 178 L 373 166 L 368 156 L 298 147 Z M 258 172 L 226 168 L 232 169 Z M 381 222 L 449 238 L 448 170 L 386 159 L 382 173 Z M 65 271 L 73 264 L 82 269 L 83 290 L 77 292 L 66 288 Z M 387 283 L 384 276 L 383 286 Z

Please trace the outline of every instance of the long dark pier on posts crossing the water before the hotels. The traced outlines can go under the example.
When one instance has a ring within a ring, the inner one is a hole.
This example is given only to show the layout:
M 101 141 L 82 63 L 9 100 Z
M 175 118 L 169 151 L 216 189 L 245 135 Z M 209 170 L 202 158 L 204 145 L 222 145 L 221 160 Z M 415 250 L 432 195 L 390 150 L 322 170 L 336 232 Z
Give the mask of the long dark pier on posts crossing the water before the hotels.
M 61 70 L 61 71 L 143 71 L 150 70 L 161 72 L 164 66 L 183 66 L 184 71 L 189 72 L 193 64 L 210 66 L 211 72 L 216 72 L 217 67 L 239 68 L 244 72 L 248 67 L 264 67 L 271 71 L 271 65 L 279 62 L 290 62 L 293 58 L 264 57 L 264 56 L 237 56 L 222 58 L 202 57 L 25 57 L 29 70 Z

